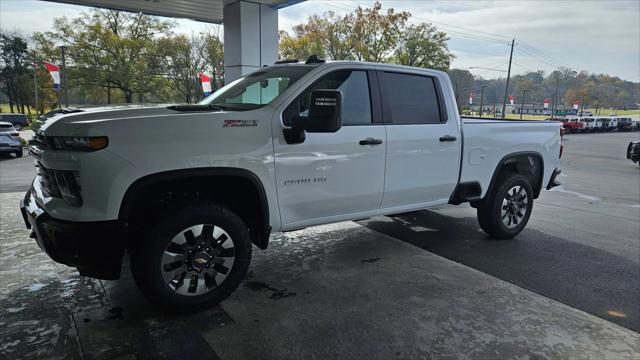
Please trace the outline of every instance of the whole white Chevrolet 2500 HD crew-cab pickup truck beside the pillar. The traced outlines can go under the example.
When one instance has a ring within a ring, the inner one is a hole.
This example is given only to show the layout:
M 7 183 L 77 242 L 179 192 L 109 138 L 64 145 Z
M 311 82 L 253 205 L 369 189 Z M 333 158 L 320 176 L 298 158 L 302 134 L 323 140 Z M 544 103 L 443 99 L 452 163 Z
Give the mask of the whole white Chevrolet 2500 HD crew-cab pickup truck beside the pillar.
M 470 203 L 512 238 L 557 185 L 560 122 L 461 119 L 446 73 L 282 63 L 196 105 L 59 114 L 21 204 L 49 256 L 176 311 L 229 296 L 274 231 Z

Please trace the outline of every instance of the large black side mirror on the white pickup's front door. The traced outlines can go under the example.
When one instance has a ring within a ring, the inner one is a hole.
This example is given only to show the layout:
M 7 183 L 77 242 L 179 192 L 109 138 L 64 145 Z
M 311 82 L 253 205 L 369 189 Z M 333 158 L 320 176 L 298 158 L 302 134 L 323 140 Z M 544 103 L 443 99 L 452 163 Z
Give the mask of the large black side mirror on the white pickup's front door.
M 308 116 L 292 119 L 291 127 L 310 133 L 332 133 L 342 126 L 342 93 L 339 90 L 314 90 Z

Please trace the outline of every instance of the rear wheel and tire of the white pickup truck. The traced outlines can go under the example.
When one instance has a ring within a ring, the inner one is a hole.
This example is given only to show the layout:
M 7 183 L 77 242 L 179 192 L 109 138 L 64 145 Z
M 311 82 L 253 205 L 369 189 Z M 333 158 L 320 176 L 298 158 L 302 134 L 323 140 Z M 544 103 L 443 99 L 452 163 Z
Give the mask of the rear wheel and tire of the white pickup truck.
M 514 196 L 517 198 L 513 199 Z M 532 210 L 533 189 L 529 180 L 506 173 L 478 206 L 478 223 L 493 238 L 511 239 L 527 226 Z

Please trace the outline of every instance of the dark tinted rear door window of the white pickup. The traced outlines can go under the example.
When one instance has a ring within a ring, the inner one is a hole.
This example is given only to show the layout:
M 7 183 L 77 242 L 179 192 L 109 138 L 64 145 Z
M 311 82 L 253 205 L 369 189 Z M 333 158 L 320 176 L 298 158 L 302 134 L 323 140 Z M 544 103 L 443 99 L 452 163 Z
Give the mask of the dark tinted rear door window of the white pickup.
M 383 91 L 388 106 L 387 121 L 395 124 L 439 123 L 440 108 L 432 77 L 383 73 Z

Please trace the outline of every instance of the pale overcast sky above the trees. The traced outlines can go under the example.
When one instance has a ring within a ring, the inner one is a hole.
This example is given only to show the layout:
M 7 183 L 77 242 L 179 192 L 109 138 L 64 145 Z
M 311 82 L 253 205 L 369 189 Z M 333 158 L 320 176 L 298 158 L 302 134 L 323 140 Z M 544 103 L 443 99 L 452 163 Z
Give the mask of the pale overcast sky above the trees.
M 280 10 L 279 27 L 290 30 L 312 14 L 353 11 L 367 0 L 312 0 Z M 512 71 L 523 73 L 558 65 L 590 73 L 640 80 L 640 1 L 410 1 L 381 0 L 383 9 L 409 11 L 412 22 L 433 22 L 446 31 L 457 68 L 507 68 L 511 38 Z M 23 33 L 50 30 L 52 19 L 76 16 L 88 8 L 37 0 L 0 0 L 0 26 Z M 212 25 L 178 20 L 176 31 L 200 32 Z M 505 76 L 472 69 L 485 78 Z

